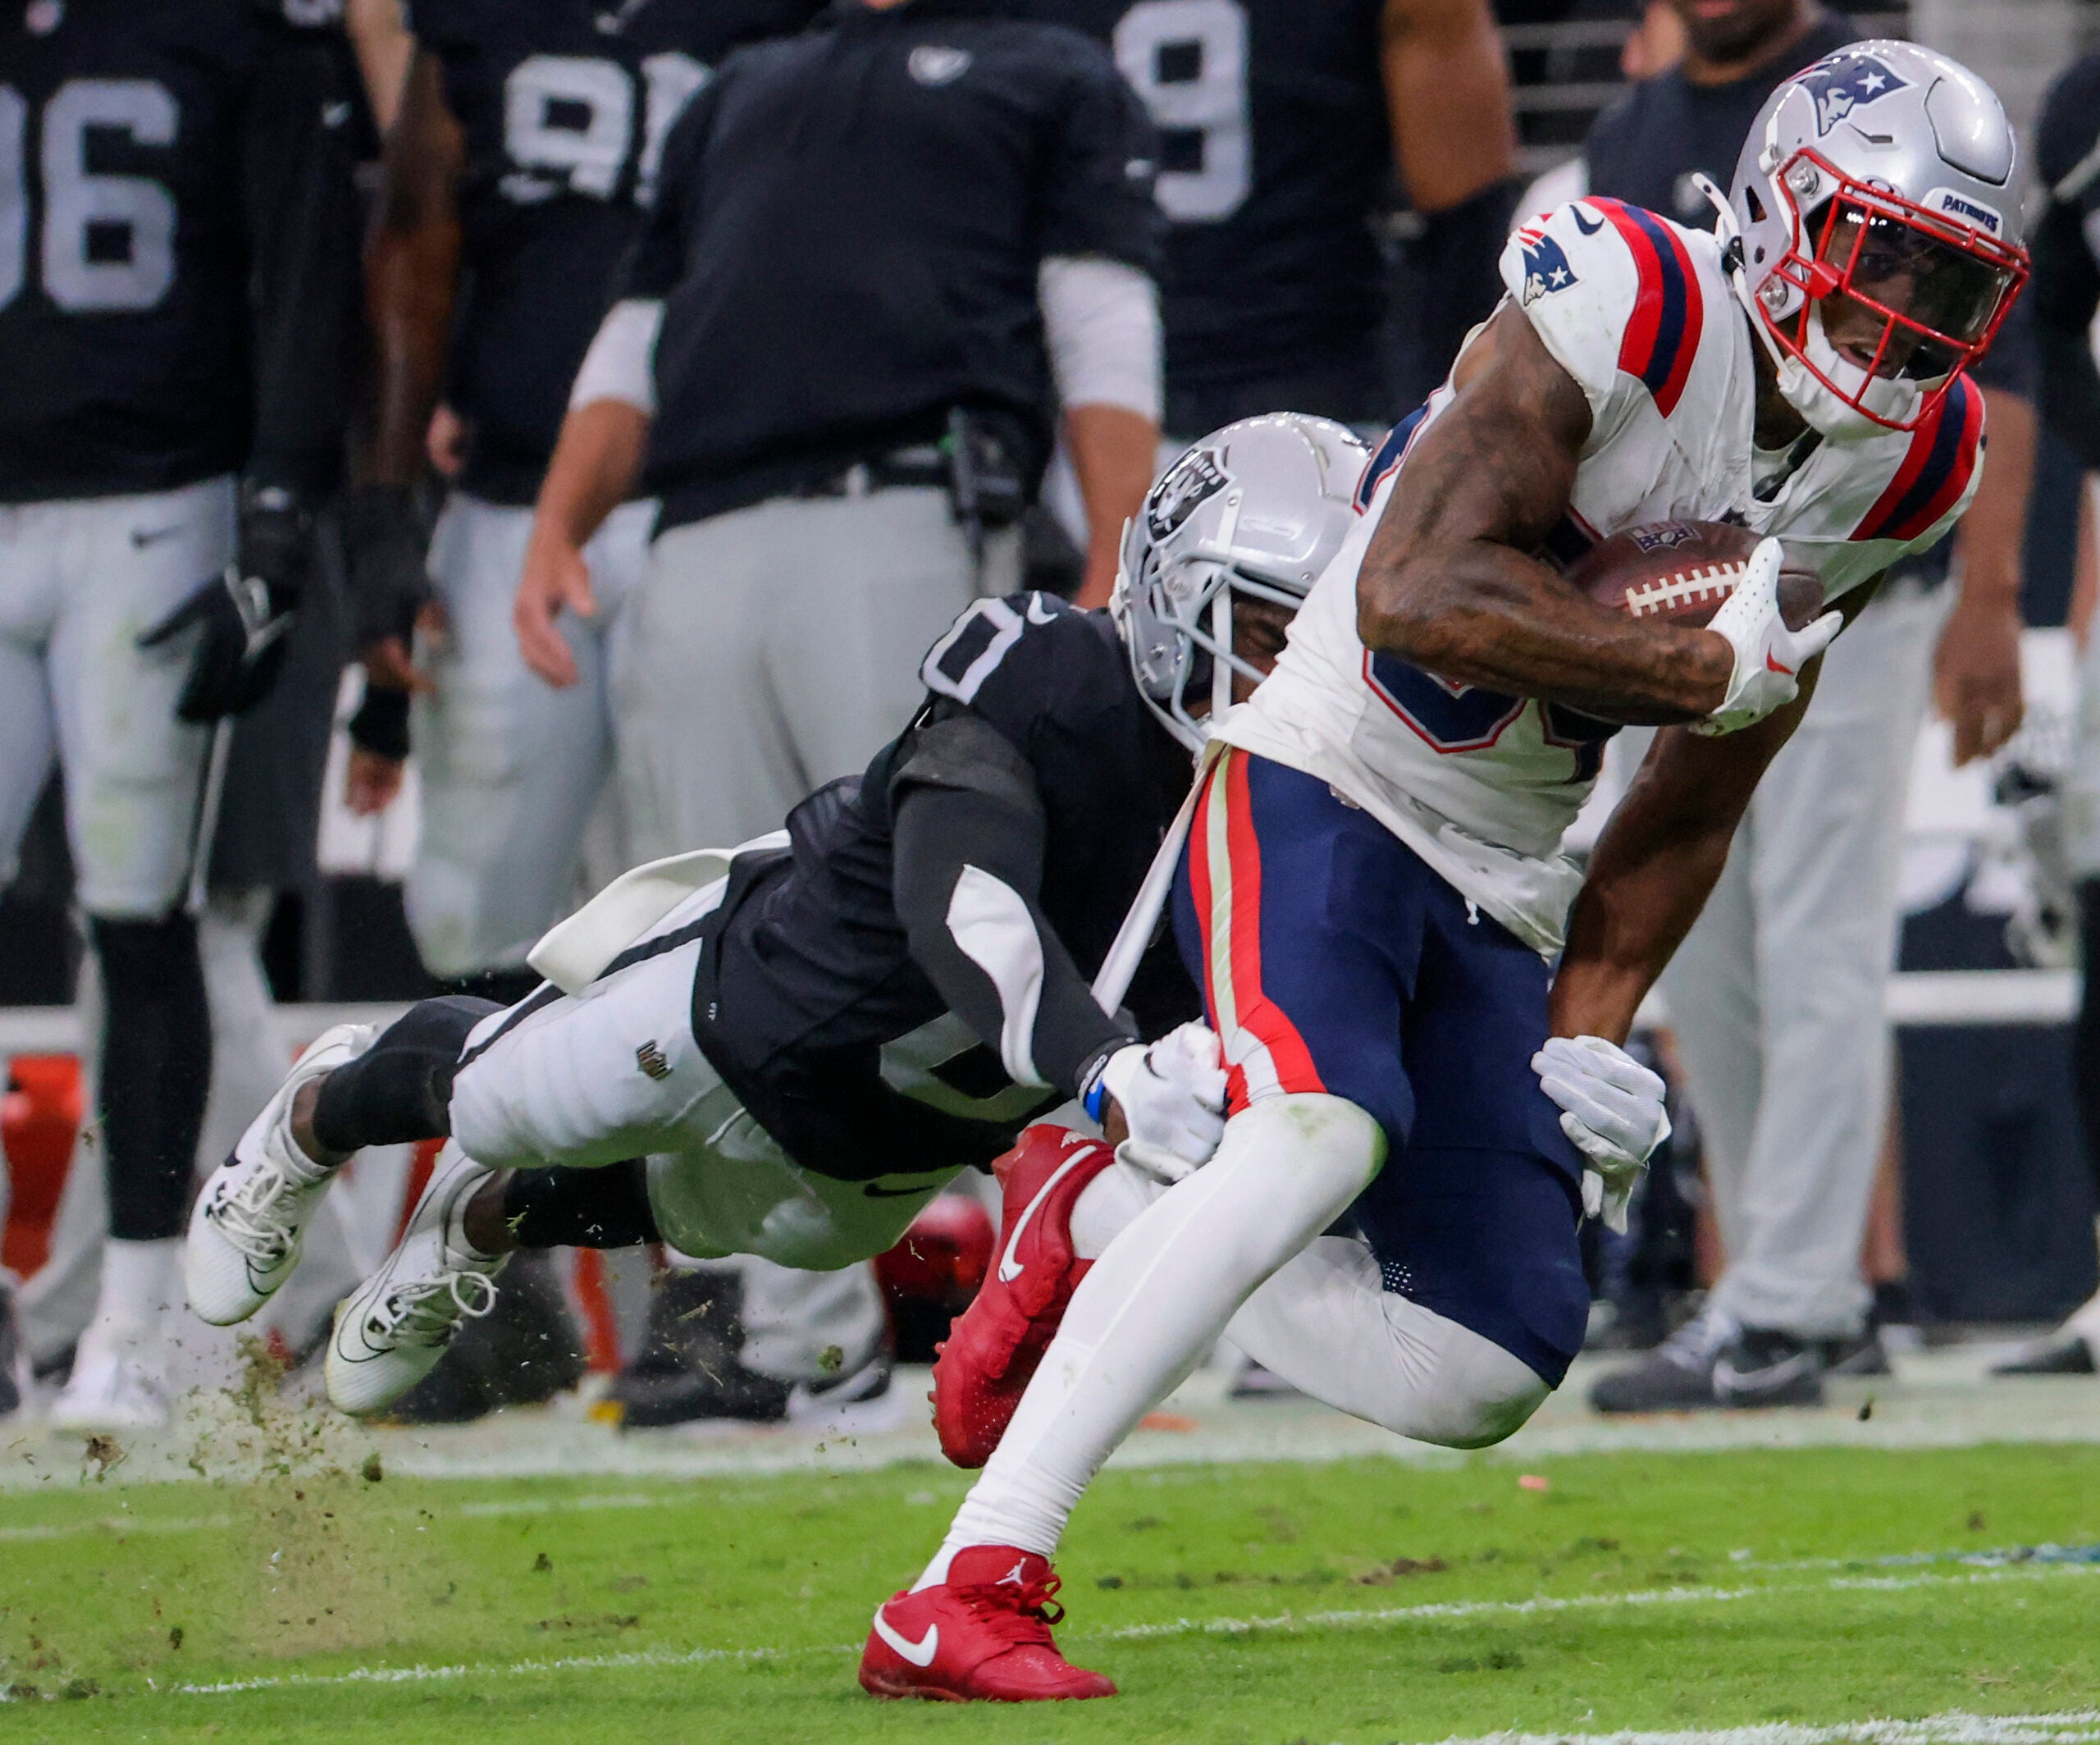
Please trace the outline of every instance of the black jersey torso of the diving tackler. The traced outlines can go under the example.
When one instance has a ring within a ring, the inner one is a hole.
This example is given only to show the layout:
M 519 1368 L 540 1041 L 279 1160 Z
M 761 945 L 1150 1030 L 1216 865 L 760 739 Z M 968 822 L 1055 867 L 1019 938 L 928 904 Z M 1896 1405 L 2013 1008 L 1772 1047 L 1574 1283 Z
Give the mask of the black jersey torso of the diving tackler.
M 716 1071 L 798 1163 L 842 1180 L 989 1163 L 1077 1088 L 1016 1086 L 1000 1037 L 972 1031 L 909 949 L 892 829 L 922 741 L 968 716 L 1025 764 L 1044 821 L 1035 901 L 1086 976 L 1191 777 L 1105 611 L 1048 594 L 981 601 L 934 645 L 926 676 L 911 731 L 865 775 L 804 800 L 788 853 L 739 861 L 695 983 L 693 1035 Z M 1128 1008 L 1142 1035 L 1201 1012 L 1170 939 L 1147 955 Z M 1126 1037 L 1094 1018 L 1102 1042 Z

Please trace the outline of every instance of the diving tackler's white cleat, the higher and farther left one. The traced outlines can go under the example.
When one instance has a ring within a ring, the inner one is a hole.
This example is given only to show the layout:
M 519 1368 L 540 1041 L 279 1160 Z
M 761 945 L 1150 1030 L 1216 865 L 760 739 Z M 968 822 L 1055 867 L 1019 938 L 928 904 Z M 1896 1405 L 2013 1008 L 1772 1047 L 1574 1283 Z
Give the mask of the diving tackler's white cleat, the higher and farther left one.
M 336 1174 L 292 1138 L 292 1098 L 321 1073 L 346 1067 L 376 1035 L 378 1025 L 323 1031 L 204 1184 L 183 1243 L 183 1283 L 200 1319 L 214 1327 L 246 1321 L 292 1277 L 307 1220 Z

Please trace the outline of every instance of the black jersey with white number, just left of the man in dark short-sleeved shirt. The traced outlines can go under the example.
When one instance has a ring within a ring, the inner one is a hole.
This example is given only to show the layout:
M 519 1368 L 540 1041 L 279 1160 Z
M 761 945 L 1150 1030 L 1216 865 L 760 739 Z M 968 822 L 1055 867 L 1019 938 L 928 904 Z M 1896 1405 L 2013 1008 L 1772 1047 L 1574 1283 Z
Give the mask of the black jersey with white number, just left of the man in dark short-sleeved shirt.
M 414 0 L 466 139 L 462 302 L 447 401 L 462 485 L 529 504 L 569 384 L 611 304 L 664 141 L 737 44 L 823 0 Z

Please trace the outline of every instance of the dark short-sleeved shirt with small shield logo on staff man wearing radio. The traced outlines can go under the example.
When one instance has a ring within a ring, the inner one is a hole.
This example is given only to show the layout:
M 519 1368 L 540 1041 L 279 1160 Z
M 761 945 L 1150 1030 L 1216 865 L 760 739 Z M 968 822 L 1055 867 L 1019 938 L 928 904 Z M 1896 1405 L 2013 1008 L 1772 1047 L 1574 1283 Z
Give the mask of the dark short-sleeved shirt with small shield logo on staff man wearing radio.
M 1046 256 L 1151 271 L 1153 139 L 1084 36 L 995 0 L 836 6 L 746 48 L 672 130 L 626 292 L 664 298 L 664 527 L 983 414 L 1050 454 Z

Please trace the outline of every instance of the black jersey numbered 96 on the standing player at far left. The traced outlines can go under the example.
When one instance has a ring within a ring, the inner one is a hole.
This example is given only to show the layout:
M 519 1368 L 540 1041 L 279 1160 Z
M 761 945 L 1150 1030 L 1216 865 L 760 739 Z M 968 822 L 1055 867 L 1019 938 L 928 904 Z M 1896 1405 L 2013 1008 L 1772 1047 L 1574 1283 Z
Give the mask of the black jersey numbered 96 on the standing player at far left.
M 334 10 L 0 13 L 0 500 L 164 491 L 252 460 L 262 483 L 323 483 L 361 122 Z

